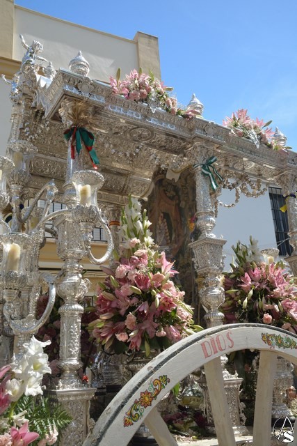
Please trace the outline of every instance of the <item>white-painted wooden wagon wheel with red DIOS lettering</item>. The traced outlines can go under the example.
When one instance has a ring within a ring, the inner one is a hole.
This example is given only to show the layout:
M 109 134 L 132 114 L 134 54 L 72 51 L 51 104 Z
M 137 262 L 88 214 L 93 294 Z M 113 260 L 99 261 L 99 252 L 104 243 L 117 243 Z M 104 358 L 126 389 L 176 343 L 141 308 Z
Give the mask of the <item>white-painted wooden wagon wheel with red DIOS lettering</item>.
M 83 446 L 125 446 L 141 422 L 160 446 L 177 446 L 156 405 L 179 381 L 202 366 L 218 444 L 235 446 L 220 355 L 244 348 L 260 351 L 252 444 L 270 445 L 276 359 L 280 355 L 297 364 L 297 336 L 269 325 L 233 324 L 193 334 L 155 357 L 111 401 Z

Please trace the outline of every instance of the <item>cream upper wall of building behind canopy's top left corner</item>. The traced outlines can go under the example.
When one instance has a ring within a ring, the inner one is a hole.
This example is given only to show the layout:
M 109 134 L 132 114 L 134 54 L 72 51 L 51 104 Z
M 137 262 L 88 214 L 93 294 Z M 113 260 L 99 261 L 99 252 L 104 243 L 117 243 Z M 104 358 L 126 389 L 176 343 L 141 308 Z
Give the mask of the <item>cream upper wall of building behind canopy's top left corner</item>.
M 84 26 L 65 22 L 47 15 L 15 6 L 13 59 L 22 61 L 24 48 L 19 40 L 23 34 L 27 44 L 39 40 L 43 45 L 42 56 L 51 61 L 56 70 L 68 69 L 71 59 L 81 50 L 90 63 L 89 76 L 109 82 L 118 68 L 129 73 L 138 67 L 137 45 L 128 40 L 102 33 Z

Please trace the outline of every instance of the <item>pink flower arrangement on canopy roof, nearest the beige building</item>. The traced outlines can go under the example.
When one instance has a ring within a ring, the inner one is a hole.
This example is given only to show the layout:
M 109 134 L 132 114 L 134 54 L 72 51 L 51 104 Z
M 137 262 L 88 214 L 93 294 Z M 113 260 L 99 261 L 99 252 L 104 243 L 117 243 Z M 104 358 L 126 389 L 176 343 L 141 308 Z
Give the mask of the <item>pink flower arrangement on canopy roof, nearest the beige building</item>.
M 195 110 L 186 110 L 178 107 L 177 99 L 168 95 L 172 87 L 164 86 L 163 82 L 156 79 L 152 72 L 146 75 L 141 70 L 132 70 L 125 79 L 120 80 L 120 68 L 116 77 L 110 77 L 110 84 L 113 93 L 122 95 L 126 99 L 135 102 L 145 102 L 154 111 L 157 107 L 166 112 L 182 116 L 183 118 L 193 118 Z

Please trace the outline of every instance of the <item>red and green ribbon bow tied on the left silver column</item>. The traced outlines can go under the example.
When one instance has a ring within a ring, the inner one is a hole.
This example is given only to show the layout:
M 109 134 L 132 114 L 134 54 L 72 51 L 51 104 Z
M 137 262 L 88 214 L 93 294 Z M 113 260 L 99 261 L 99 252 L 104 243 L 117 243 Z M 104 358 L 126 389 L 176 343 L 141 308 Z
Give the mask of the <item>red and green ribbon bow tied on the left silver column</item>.
M 67 141 L 71 139 L 71 157 L 74 160 L 75 157 L 75 148 L 77 149 L 77 153 L 79 154 L 82 148 L 81 141 L 83 145 L 86 147 L 88 154 L 90 155 L 90 159 L 92 161 L 94 169 L 97 169 L 96 164 L 99 164 L 99 160 L 97 157 L 97 153 L 95 151 L 94 141 L 95 137 L 93 133 L 86 130 L 84 127 L 79 127 L 78 125 L 72 125 L 71 128 L 68 128 L 64 132 L 64 137 Z

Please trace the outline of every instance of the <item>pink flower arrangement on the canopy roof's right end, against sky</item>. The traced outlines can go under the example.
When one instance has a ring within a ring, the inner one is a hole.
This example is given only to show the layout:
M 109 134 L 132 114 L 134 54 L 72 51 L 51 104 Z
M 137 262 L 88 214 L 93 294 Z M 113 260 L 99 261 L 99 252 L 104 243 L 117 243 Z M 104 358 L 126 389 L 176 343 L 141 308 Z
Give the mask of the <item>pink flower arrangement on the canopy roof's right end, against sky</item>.
M 281 146 L 276 139 L 273 138 L 273 130 L 268 127 L 272 121 L 264 123 L 263 119 L 255 120 L 248 116 L 247 109 L 239 109 L 232 113 L 231 117 L 223 120 L 223 125 L 230 128 L 232 133 L 237 137 L 250 139 L 257 147 L 259 144 L 265 144 L 275 151 L 285 151 L 291 147 Z

